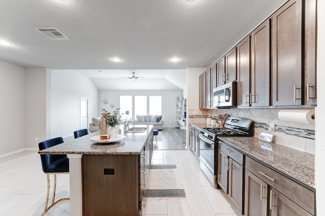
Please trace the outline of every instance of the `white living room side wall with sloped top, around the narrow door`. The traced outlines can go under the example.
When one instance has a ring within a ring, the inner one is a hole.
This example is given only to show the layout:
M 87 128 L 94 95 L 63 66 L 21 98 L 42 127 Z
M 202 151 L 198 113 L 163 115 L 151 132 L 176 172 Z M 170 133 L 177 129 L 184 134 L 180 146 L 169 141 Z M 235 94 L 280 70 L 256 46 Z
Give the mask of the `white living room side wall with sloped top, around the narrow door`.
M 89 99 L 89 123 L 99 116 L 99 91 L 90 79 L 73 70 L 51 71 L 51 138 L 80 129 L 80 98 Z M 57 133 L 59 131 L 59 133 Z

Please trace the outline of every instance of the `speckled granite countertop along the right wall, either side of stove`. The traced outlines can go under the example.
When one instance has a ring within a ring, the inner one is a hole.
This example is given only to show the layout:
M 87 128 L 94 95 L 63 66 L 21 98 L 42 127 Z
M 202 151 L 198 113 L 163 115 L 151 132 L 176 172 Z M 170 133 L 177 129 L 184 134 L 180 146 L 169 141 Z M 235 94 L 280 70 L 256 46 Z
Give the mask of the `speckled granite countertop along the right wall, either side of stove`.
M 194 126 L 212 127 L 202 123 L 191 123 Z M 221 137 L 232 147 L 251 158 L 255 158 L 283 174 L 315 189 L 315 156 L 280 144 L 267 143 L 256 137 Z

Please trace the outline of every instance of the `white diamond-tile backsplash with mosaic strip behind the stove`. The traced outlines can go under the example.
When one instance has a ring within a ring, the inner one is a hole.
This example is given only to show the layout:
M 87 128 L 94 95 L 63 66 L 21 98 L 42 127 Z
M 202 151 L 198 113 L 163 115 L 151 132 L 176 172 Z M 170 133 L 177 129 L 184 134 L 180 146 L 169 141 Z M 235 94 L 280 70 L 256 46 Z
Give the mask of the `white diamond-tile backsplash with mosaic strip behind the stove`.
M 315 125 L 312 124 L 302 124 L 294 122 L 281 121 L 278 118 L 278 112 L 281 109 L 189 109 L 188 115 L 210 115 L 217 116 L 218 114 L 230 114 L 234 117 L 243 117 L 249 118 L 254 122 L 260 123 L 274 123 L 276 125 L 288 126 L 293 128 L 304 128 L 315 131 Z M 205 118 L 190 118 L 188 119 L 189 123 L 204 123 L 206 122 Z M 254 136 L 259 137 L 261 132 L 271 133 L 266 131 L 263 128 L 254 128 Z M 294 135 L 288 135 L 285 133 L 275 132 L 275 142 L 290 148 L 297 149 L 299 151 L 307 152 L 310 154 L 315 154 L 315 140 L 297 137 Z

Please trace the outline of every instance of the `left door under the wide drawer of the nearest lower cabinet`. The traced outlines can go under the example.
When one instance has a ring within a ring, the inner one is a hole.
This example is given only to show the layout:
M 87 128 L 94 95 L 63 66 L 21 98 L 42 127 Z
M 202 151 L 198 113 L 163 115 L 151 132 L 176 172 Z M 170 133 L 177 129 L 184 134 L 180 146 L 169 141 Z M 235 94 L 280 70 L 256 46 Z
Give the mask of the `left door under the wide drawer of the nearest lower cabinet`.
M 266 216 L 267 197 L 267 184 L 246 169 L 244 215 Z

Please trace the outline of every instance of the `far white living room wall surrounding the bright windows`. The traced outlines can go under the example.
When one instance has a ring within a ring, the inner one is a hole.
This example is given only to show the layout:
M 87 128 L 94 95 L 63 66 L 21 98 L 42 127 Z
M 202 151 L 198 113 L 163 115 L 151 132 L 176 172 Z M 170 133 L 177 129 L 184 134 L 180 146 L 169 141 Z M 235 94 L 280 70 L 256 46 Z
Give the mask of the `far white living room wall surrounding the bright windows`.
M 100 91 L 99 111 L 105 108 L 108 111 L 114 111 L 119 107 L 120 95 L 161 95 L 161 115 L 164 120 L 163 127 L 174 127 L 175 109 L 177 97 L 182 96 L 182 90 L 179 91 Z M 103 100 L 107 99 L 108 104 L 104 104 Z M 114 103 L 115 107 L 111 108 L 110 104 Z

